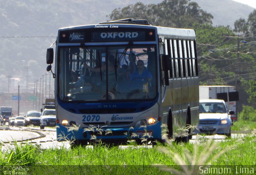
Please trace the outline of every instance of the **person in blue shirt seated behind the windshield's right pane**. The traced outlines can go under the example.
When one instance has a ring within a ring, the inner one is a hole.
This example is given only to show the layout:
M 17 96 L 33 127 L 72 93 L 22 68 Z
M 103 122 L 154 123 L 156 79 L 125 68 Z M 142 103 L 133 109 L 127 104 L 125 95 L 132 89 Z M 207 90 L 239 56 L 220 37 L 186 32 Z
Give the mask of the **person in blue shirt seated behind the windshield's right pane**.
M 130 76 L 131 81 L 135 79 L 145 82 L 150 82 L 152 80 L 152 75 L 149 71 L 144 69 L 144 62 L 142 60 L 137 61 L 137 70 Z

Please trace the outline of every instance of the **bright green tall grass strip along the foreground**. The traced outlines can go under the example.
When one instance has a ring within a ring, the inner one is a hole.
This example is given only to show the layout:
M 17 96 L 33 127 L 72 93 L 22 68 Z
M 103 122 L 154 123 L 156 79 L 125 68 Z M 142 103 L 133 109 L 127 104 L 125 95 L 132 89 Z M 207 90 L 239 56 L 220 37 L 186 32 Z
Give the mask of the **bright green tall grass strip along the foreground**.
M 255 165 L 256 130 L 244 138 L 214 142 L 202 137 L 198 144 L 171 142 L 154 147 L 76 146 L 41 149 L 15 143 L 2 151 L 0 165 L 41 165 L 31 174 L 198 174 L 193 165 Z M 233 149 L 235 148 L 235 149 Z M 42 166 L 44 165 L 44 166 Z M 51 165 L 51 166 L 46 166 Z M 168 172 L 162 172 L 168 171 Z M 52 172 L 52 173 L 51 173 Z M 56 173 L 58 172 L 58 173 Z

